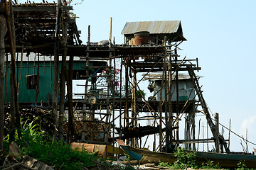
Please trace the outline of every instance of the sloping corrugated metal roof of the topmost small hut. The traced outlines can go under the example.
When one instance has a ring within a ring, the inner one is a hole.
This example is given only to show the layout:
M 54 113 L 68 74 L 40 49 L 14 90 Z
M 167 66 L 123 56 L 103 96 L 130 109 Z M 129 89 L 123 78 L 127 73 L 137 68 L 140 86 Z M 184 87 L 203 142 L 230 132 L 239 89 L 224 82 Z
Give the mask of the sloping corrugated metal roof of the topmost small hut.
M 149 31 L 151 34 L 177 33 L 183 35 L 181 21 L 144 21 L 127 22 L 122 30 L 122 34 L 134 34 L 139 31 Z

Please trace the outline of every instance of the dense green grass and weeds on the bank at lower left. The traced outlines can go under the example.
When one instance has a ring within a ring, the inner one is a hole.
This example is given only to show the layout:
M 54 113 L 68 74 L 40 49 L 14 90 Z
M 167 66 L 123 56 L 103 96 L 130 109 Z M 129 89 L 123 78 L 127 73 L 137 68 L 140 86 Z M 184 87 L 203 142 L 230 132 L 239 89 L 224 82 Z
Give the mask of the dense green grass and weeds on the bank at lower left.
M 95 166 L 95 164 L 105 167 L 104 169 L 114 167 L 95 154 L 70 149 L 69 145 L 61 141 L 52 142 L 51 137 L 42 132 L 39 125 L 34 125 L 33 121 L 23 123 L 21 133 L 20 140 L 17 140 L 16 135 L 16 144 L 21 149 L 21 154 L 38 159 L 38 161 L 52 166 L 53 169 L 85 169 L 85 167 Z M 6 144 L 9 143 L 8 136 L 5 137 L 5 140 Z M 130 169 L 130 167 L 118 166 L 117 169 Z

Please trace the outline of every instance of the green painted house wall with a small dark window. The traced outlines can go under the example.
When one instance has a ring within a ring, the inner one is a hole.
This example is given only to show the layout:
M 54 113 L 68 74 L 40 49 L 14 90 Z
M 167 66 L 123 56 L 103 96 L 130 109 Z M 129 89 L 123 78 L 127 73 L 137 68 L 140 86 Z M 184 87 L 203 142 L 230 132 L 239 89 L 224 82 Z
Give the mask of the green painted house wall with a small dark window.
M 68 64 L 68 63 L 67 63 Z M 84 61 L 74 61 L 73 70 L 85 70 L 82 67 L 85 67 Z M 26 76 L 31 74 L 37 74 L 38 72 L 38 62 L 23 62 L 23 68 L 21 69 L 21 62 L 16 64 L 18 65 L 18 72 L 16 69 L 17 81 L 19 81 L 19 94 L 18 102 L 21 103 L 35 103 L 36 102 L 36 89 L 27 89 Z M 50 65 L 52 67 L 50 67 Z M 36 66 L 36 67 L 34 67 Z M 39 62 L 39 94 L 38 102 L 49 102 L 51 103 L 52 93 L 53 93 L 53 62 Z M 90 63 L 92 66 L 92 63 Z M 59 64 L 59 69 L 61 68 L 61 62 Z M 6 102 L 10 101 L 10 68 L 7 75 L 7 96 Z M 73 77 L 75 79 L 75 77 Z

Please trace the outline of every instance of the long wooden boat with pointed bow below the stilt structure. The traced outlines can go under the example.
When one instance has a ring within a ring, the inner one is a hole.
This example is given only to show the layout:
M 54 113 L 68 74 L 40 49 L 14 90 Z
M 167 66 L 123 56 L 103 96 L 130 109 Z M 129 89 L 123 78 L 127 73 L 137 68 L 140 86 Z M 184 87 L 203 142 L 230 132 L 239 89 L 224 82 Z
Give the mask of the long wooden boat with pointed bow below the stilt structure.
M 169 162 L 173 164 L 176 161 L 175 154 L 164 152 L 151 152 L 149 150 L 136 149 L 124 144 L 124 141 L 117 140 L 118 144 L 124 152 L 127 152 L 130 157 L 138 160 L 141 164 L 148 162 L 159 163 Z M 186 150 L 186 152 L 192 152 Z M 196 161 L 198 164 L 203 162 L 213 161 L 213 164 L 219 164 L 222 168 L 238 168 L 239 162 L 245 162 L 247 168 L 256 168 L 256 156 L 252 154 L 220 154 L 214 152 L 196 152 Z

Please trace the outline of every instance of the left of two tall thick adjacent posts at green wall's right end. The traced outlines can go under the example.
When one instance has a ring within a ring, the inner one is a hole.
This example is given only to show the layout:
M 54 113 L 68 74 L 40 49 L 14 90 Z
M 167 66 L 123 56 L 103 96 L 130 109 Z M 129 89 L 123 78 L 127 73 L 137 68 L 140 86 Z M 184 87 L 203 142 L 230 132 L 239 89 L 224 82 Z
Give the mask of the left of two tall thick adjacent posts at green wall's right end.
M 53 70 L 53 120 L 54 120 L 54 132 L 53 141 L 56 137 L 56 128 L 58 127 L 58 64 L 59 64 L 59 34 L 60 34 L 60 20 L 61 20 L 61 8 L 60 0 L 57 1 L 57 17 L 55 25 L 55 35 L 54 35 L 54 70 Z

